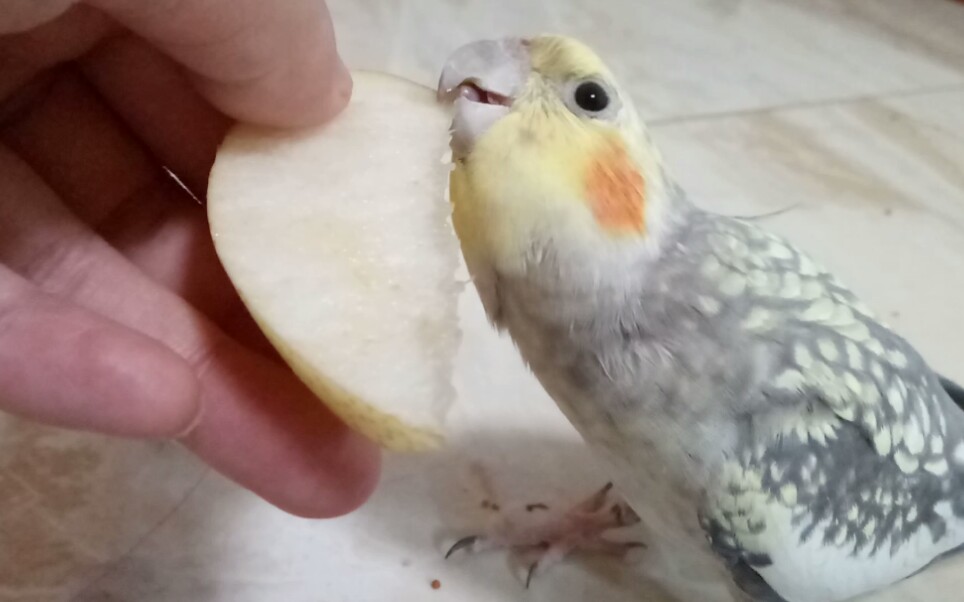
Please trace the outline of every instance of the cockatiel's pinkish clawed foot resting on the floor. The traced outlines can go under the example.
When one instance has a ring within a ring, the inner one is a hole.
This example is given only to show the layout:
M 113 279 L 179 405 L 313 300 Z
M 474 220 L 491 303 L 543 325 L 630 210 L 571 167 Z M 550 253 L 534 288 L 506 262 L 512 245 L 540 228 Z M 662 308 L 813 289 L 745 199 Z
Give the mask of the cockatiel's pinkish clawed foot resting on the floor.
M 562 561 L 573 552 L 589 552 L 624 557 L 630 550 L 646 547 L 637 541 L 611 541 L 603 534 L 611 529 L 628 527 L 639 522 L 639 516 L 625 502 L 612 498 L 612 483 L 607 484 L 588 499 L 567 510 L 561 516 L 548 516 L 532 524 L 520 526 L 515 521 L 504 521 L 485 535 L 470 535 L 455 542 L 445 555 L 465 550 L 482 552 L 508 549 L 519 554 L 525 567 L 525 584 L 532 578 Z M 545 504 L 529 504 L 527 514 L 549 512 Z M 550 513 L 551 514 L 551 513 Z

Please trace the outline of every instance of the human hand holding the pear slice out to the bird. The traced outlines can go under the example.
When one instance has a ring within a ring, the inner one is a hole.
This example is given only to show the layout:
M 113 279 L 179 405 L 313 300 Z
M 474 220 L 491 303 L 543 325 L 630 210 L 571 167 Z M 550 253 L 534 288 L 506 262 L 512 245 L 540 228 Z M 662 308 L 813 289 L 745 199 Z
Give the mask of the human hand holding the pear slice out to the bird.
M 202 205 L 232 119 L 347 103 L 322 0 L 5 0 L 0 36 L 0 409 L 178 438 L 297 515 L 361 504 L 377 449 L 264 340 Z

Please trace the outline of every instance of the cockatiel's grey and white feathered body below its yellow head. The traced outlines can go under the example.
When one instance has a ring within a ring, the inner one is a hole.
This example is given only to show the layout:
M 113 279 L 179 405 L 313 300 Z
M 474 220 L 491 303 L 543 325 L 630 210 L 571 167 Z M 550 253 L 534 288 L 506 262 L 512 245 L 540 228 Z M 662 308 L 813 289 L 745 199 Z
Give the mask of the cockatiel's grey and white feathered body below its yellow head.
M 964 543 L 964 391 L 786 241 L 680 207 L 658 249 L 594 271 L 540 248 L 490 295 L 630 503 L 665 509 L 667 546 L 702 532 L 760 602 L 843 599 L 843 577 L 874 589 Z

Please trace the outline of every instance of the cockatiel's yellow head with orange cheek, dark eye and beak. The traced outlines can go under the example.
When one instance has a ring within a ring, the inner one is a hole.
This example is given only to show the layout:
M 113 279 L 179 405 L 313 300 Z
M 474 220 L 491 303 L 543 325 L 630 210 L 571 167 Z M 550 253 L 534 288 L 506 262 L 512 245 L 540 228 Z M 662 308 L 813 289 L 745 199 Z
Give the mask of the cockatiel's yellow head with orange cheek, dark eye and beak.
M 524 274 L 547 256 L 604 258 L 658 238 L 667 186 L 632 101 L 602 59 L 566 37 L 456 50 L 453 221 L 469 263 Z

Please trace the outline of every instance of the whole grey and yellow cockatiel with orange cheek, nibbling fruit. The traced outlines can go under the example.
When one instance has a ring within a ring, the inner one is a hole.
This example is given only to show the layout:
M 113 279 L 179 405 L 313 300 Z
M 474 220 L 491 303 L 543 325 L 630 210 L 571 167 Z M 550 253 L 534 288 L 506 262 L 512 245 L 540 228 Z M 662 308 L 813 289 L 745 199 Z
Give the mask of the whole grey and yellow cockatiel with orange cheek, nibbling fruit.
M 847 600 L 964 545 L 964 390 L 789 242 L 691 203 L 596 54 L 472 43 L 439 95 L 486 313 L 682 563 L 672 594 Z M 564 531 L 540 537 L 588 543 Z

